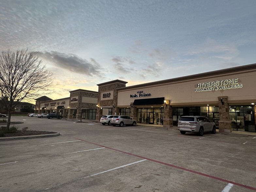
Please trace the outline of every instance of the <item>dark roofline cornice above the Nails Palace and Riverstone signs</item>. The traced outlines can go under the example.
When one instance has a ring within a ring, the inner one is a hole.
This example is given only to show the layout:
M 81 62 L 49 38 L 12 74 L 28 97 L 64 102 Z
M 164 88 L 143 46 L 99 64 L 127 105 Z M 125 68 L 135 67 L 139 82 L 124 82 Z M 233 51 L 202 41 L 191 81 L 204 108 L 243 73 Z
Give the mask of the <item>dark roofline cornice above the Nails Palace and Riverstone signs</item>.
M 177 78 L 173 78 L 173 79 L 154 81 L 154 82 L 143 83 L 143 84 L 139 84 L 139 85 L 132 85 L 132 86 L 124 87 L 124 88 L 118 88 L 118 90 L 125 90 L 125 89 L 129 89 L 129 88 L 141 88 L 141 86 L 155 86 L 155 85 L 159 85 L 159 84 L 175 83 L 175 82 L 179 82 L 179 81 L 188 81 L 188 80 L 205 78 L 205 77 L 209 77 L 209 76 L 222 76 L 223 74 L 227 74 L 227 73 L 241 73 L 242 71 L 249 71 L 249 70 L 256 71 L 256 63 L 222 69 L 222 70 L 217 70 L 217 71 L 212 71 L 212 72 L 204 72 L 204 73 L 198 73 L 198 74 L 194 74 L 194 75 L 177 77 Z

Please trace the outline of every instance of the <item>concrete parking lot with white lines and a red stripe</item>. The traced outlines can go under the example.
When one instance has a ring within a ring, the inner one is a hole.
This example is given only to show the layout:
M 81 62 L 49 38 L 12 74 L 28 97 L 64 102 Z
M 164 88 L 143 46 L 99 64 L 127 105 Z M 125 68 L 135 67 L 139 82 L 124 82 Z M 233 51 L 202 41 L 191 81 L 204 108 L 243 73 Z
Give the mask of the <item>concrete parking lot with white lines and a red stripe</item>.
M 0 141 L 0 191 L 256 191 L 256 138 L 12 117 L 56 137 Z

